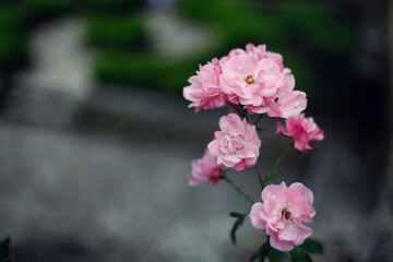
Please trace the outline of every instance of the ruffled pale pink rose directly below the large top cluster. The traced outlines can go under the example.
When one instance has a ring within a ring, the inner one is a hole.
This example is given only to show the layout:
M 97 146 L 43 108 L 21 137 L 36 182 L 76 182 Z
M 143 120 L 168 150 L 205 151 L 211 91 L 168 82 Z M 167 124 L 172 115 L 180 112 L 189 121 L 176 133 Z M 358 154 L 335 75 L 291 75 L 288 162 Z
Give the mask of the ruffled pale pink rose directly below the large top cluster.
M 217 164 L 243 170 L 254 166 L 259 156 L 261 140 L 255 126 L 246 119 L 241 121 L 236 114 L 219 119 L 221 131 L 214 133 L 214 140 L 207 145 L 210 153 L 217 157 Z

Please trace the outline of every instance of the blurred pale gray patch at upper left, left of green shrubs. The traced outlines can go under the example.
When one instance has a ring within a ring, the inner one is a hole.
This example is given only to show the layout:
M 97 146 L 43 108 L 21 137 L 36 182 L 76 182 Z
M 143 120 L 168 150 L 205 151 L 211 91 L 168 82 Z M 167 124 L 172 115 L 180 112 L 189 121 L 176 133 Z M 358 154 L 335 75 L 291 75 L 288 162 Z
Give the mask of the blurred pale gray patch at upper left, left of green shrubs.
M 32 69 L 21 72 L 16 85 L 31 93 L 47 91 L 82 99 L 93 88 L 94 52 L 84 45 L 82 17 L 51 21 L 31 37 Z

